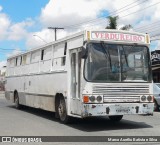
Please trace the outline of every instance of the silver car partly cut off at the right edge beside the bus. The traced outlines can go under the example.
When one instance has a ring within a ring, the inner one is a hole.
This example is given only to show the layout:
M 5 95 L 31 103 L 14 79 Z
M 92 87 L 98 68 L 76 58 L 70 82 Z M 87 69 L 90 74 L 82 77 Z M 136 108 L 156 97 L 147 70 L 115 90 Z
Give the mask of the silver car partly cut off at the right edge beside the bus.
M 153 83 L 154 110 L 160 110 L 160 83 Z

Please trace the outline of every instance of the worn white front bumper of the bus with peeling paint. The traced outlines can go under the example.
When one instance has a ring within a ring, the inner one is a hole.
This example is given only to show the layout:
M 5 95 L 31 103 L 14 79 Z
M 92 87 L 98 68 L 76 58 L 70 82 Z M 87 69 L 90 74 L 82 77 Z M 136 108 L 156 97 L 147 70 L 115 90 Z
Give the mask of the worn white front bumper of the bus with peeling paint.
M 83 104 L 82 117 L 146 114 L 153 115 L 154 103 Z

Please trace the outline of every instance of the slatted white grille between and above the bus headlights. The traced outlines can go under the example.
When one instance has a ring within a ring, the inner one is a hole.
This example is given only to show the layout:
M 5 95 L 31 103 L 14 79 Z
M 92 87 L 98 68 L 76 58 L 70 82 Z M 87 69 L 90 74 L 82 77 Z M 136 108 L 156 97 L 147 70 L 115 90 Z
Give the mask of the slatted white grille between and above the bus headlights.
M 149 95 L 149 85 L 93 85 L 93 94 L 103 95 L 104 103 L 140 102 L 141 95 Z

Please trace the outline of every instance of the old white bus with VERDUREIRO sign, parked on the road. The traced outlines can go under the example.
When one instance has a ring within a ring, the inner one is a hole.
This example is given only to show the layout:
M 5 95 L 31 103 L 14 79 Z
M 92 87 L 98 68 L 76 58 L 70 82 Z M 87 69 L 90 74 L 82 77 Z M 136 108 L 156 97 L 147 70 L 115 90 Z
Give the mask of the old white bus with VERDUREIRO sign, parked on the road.
M 153 114 L 150 39 L 119 30 L 86 30 L 7 60 L 5 97 L 70 117 Z

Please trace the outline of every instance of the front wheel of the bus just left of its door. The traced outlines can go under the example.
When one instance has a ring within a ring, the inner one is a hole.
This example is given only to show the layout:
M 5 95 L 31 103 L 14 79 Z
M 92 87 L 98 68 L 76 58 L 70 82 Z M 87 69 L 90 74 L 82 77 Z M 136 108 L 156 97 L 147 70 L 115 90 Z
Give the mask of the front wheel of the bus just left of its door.
M 66 103 L 63 97 L 61 97 L 59 101 L 58 116 L 62 123 L 69 123 L 70 117 L 67 115 Z

